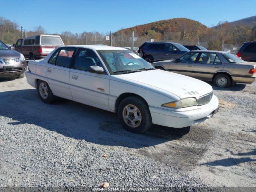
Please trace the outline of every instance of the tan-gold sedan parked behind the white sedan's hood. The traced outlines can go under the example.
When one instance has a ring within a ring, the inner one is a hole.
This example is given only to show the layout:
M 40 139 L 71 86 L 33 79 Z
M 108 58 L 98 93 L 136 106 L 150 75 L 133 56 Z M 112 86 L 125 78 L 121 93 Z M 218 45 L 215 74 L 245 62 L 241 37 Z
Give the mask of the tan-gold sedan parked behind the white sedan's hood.
M 176 60 L 152 63 L 162 69 L 205 81 L 215 86 L 229 87 L 234 83 L 252 83 L 256 78 L 256 64 L 245 62 L 223 51 L 190 51 Z

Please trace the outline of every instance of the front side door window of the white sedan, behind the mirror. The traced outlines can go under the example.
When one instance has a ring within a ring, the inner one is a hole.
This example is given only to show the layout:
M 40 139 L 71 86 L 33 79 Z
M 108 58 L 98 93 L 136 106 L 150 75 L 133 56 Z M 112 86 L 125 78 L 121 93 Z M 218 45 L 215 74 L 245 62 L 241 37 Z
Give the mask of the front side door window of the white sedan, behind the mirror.
M 102 66 L 94 51 L 80 48 L 74 61 L 74 69 L 89 71 L 90 66 Z

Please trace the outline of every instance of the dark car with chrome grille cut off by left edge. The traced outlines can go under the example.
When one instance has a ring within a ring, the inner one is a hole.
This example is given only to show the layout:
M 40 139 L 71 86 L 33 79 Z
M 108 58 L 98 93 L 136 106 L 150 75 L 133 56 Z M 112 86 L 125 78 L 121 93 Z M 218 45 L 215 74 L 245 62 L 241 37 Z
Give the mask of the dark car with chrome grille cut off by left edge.
M 26 69 L 24 56 L 0 41 L 0 78 L 23 78 Z

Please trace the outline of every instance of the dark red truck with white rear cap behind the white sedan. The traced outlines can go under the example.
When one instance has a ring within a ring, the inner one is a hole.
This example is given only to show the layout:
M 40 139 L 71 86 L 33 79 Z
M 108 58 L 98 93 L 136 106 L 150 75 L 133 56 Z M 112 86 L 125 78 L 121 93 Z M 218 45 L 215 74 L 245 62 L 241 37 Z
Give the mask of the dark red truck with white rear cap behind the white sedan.
M 30 60 L 42 59 L 52 50 L 64 43 L 58 35 L 35 35 L 25 39 L 18 39 L 15 50 L 22 53 L 25 58 Z

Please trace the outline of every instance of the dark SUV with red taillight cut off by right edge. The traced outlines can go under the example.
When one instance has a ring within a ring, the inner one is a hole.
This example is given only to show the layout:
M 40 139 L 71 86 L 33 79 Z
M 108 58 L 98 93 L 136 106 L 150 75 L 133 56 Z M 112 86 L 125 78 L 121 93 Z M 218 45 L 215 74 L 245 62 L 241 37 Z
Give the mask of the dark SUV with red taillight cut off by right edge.
M 256 41 L 245 42 L 236 56 L 241 57 L 244 61 L 256 62 Z

